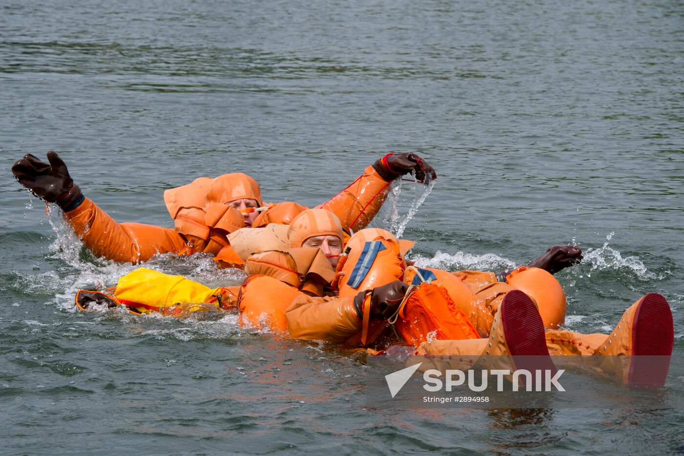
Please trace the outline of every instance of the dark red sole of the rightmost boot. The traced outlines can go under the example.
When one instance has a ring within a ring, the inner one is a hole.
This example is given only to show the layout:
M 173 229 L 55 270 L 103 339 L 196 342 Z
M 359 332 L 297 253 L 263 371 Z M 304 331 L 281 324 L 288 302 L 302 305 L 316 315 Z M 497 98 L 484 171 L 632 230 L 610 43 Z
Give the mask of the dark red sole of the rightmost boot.
M 632 323 L 632 355 L 628 381 L 637 388 L 665 384 L 674 345 L 672 310 L 658 293 L 648 293 L 637 305 Z

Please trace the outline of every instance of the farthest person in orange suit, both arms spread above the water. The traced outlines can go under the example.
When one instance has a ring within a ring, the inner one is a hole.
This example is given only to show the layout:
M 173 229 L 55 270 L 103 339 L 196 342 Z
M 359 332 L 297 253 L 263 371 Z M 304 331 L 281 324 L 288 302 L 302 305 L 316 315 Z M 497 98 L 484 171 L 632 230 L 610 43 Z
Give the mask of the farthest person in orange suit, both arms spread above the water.
M 241 227 L 289 223 L 304 206 L 280 203 L 263 207 L 259 184 L 241 173 L 215 179 L 200 177 L 192 183 L 166 190 L 164 200 L 174 229 L 141 223 L 116 223 L 93 201 L 83 196 L 57 153 L 49 163 L 25 155 L 12 166 L 21 185 L 47 203 L 57 203 L 83 244 L 95 255 L 118 262 L 137 262 L 156 253 L 190 255 L 207 252 L 224 266 L 241 264 L 226 235 Z M 345 229 L 363 229 L 378 213 L 393 179 L 415 173 L 429 181 L 436 173 L 412 153 L 389 153 L 367 167 L 363 175 L 318 207 L 337 214 Z

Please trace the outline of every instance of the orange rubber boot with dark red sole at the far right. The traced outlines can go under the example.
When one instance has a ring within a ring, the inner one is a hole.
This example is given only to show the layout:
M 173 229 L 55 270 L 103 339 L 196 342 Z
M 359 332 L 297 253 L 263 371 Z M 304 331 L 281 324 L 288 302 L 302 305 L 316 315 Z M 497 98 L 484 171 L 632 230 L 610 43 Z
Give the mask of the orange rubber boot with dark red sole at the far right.
M 648 293 L 624 311 L 615 329 L 594 351 L 599 368 L 637 388 L 665 384 L 674 345 L 672 310 L 658 293 Z

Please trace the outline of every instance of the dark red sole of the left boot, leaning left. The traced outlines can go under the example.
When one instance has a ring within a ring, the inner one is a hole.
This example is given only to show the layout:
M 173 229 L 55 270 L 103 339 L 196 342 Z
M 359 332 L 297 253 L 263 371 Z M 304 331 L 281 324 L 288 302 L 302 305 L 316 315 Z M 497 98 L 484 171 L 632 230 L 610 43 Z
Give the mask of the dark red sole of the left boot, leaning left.
M 544 322 L 529 296 L 519 290 L 506 293 L 499 307 L 499 315 L 516 368 L 529 372 L 551 370 L 555 374 L 556 367 L 549 356 L 544 335 Z

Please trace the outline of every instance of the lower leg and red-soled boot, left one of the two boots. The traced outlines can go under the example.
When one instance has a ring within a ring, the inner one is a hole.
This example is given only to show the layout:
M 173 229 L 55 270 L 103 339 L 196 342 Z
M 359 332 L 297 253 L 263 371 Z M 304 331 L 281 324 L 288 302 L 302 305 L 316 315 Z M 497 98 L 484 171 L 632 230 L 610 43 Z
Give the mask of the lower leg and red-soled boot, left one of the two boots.
M 416 354 L 434 356 L 423 363 L 421 370 L 434 364 L 434 368 L 441 369 L 462 370 L 475 366 L 511 372 L 549 370 L 551 375 L 556 372 L 547 351 L 544 324 L 537 307 L 529 296 L 518 290 L 503 296 L 488 339 L 423 342 Z

